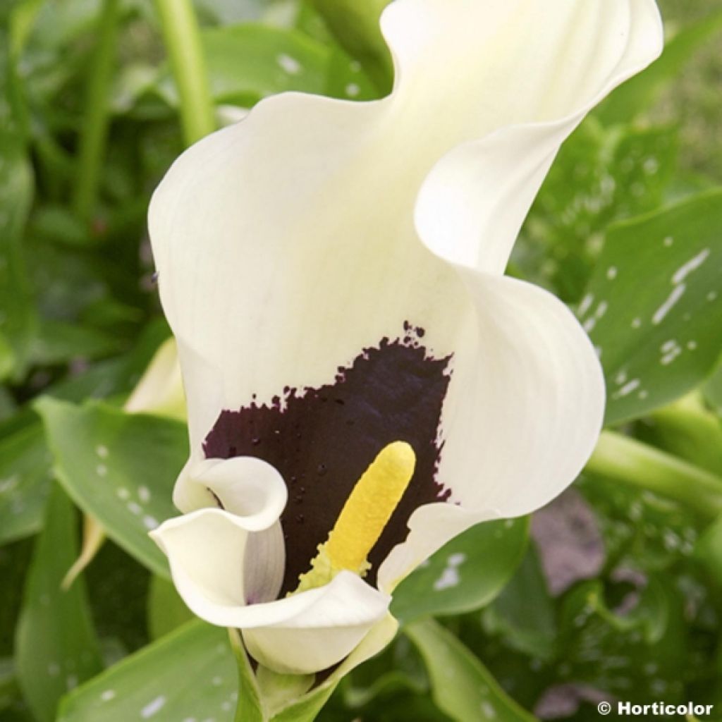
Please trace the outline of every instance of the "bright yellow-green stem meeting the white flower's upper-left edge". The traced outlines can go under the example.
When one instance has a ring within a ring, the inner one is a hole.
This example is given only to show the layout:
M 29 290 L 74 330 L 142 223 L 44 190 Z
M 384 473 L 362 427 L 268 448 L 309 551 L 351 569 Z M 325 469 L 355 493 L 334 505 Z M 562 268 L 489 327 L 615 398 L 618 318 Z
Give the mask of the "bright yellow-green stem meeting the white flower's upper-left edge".
M 155 2 L 181 100 L 183 139 L 192 145 L 216 129 L 198 19 L 191 0 Z

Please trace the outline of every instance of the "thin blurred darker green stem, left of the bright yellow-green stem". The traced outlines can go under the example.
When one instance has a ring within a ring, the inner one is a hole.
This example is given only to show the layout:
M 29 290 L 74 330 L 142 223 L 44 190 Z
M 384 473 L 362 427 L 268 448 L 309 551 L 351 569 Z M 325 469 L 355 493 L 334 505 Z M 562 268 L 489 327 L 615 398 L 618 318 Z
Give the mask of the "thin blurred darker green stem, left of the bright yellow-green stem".
M 118 39 L 118 0 L 105 0 L 100 11 L 97 45 L 92 58 L 85 95 L 85 112 L 80 137 L 78 182 L 74 208 L 79 217 L 90 220 L 97 203 L 100 170 L 108 138 L 108 96 Z

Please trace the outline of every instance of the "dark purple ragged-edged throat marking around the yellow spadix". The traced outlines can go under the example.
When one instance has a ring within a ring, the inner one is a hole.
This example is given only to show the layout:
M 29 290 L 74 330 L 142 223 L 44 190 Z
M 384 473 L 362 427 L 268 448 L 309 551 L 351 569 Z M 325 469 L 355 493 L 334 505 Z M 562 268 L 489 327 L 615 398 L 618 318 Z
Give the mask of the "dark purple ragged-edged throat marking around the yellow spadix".
M 401 503 L 369 556 L 366 580 L 375 585 L 380 562 L 406 539 L 406 522 L 423 504 L 445 501 L 451 490 L 436 481 L 443 443 L 441 407 L 451 357 L 435 359 L 418 339 L 423 329 L 404 323 L 403 339 L 364 349 L 335 383 L 284 388 L 284 401 L 222 411 L 204 441 L 206 458 L 256 456 L 273 464 L 288 487 L 281 516 L 286 572 L 281 596 L 298 586 L 363 472 L 381 449 L 406 441 L 416 469 Z

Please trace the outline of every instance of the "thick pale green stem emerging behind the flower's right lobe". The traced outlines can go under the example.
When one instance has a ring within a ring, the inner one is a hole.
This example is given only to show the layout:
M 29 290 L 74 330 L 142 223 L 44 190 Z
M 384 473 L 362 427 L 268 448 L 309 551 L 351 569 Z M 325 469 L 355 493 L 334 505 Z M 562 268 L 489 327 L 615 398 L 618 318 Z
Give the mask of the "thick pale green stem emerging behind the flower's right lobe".
M 722 479 L 676 456 L 603 431 L 586 471 L 679 501 L 703 516 L 722 513 Z

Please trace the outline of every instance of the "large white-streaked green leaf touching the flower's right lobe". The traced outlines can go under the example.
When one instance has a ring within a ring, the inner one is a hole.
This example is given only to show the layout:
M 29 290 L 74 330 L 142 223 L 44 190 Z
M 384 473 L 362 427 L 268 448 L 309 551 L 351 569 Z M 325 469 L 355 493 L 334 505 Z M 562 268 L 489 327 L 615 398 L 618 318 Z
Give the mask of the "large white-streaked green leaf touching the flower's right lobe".
M 722 190 L 609 231 L 579 308 L 607 383 L 606 423 L 677 399 L 721 352 Z

